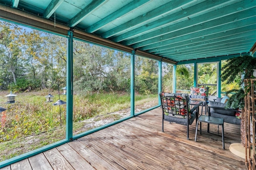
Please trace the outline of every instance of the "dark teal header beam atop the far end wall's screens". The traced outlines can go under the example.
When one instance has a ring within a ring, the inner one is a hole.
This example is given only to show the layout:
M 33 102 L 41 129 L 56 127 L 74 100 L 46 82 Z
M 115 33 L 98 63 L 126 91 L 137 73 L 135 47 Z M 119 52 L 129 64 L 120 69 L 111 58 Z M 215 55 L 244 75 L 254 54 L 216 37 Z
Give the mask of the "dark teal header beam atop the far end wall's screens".
M 242 53 L 241 55 L 250 55 L 250 53 Z M 226 60 L 226 59 L 230 59 L 230 58 L 234 58 L 234 57 L 240 57 L 240 54 L 233 54 L 233 55 L 224 55 L 224 56 L 218 56 L 218 57 L 209 57 L 209 58 L 204 58 L 204 59 L 191 59 L 188 61 L 178 61 L 177 65 L 181 65 L 181 64 L 190 64 L 193 62 L 197 62 L 197 63 L 208 63 L 208 62 L 216 62 L 221 60 Z

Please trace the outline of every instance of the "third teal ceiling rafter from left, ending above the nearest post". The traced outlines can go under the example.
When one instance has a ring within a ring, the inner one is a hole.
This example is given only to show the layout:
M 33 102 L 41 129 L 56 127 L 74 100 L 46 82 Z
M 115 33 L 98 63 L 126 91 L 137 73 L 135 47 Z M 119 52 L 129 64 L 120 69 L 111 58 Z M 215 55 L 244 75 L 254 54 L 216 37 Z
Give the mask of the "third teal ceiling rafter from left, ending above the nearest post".
M 82 11 L 78 12 L 76 16 L 74 16 L 69 22 L 68 26 L 74 27 L 79 24 L 84 18 L 86 18 L 89 14 L 94 12 L 94 10 L 100 8 L 100 6 L 106 4 L 108 0 L 93 0 L 90 4 L 88 4 Z

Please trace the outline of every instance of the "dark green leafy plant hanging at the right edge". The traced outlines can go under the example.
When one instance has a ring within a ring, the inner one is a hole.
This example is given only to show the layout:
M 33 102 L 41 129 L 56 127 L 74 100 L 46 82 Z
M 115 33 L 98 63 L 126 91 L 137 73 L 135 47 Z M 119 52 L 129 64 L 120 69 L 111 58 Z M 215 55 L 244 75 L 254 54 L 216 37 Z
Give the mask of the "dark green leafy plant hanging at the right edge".
M 256 57 L 250 55 L 244 55 L 240 57 L 235 57 L 227 60 L 226 65 L 222 67 L 221 79 L 227 83 L 234 82 L 240 75 L 239 73 L 244 72 L 239 81 L 240 89 L 231 89 L 227 91 L 227 94 L 234 93 L 230 96 L 227 102 L 227 107 L 233 109 L 243 109 L 244 108 L 244 79 L 253 78 L 253 69 L 256 69 Z

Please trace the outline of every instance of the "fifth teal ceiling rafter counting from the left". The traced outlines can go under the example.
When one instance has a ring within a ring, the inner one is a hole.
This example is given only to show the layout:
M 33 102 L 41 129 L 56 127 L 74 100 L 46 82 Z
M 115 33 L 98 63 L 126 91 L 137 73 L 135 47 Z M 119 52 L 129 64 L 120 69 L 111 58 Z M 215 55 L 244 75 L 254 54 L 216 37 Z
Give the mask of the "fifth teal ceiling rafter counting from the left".
M 192 1 L 192 0 L 190 0 Z M 162 18 L 164 15 L 168 15 L 170 11 L 174 10 L 176 6 L 182 6 L 184 4 L 188 3 L 188 1 L 171 1 L 167 2 L 166 4 L 153 9 L 152 11 L 149 11 L 145 14 L 142 14 L 138 16 L 137 18 L 134 18 L 124 24 L 121 24 L 120 26 L 117 26 L 116 28 L 113 28 L 111 30 L 108 30 L 107 32 L 104 32 L 101 34 L 103 38 L 109 38 L 111 36 L 114 36 L 120 32 L 123 32 L 126 28 L 127 25 L 130 26 L 129 29 L 132 29 L 133 27 L 142 24 L 143 22 L 150 22 L 151 20 L 156 20 L 156 18 Z M 166 8 L 168 6 L 168 8 Z M 150 20 L 148 20 L 150 18 Z M 122 40 L 122 38 L 121 38 Z

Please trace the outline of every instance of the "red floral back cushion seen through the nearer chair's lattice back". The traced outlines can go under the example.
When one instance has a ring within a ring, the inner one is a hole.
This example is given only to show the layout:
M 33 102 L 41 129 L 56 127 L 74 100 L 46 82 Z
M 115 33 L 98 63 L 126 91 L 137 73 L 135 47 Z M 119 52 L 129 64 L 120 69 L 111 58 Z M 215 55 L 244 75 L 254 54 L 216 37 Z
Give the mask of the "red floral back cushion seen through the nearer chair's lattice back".
M 189 118 L 191 118 L 188 94 L 162 92 L 160 96 L 165 115 L 187 119 L 187 114 L 189 113 Z M 188 103 L 186 103 L 186 99 Z M 186 109 L 187 105 L 188 110 Z

